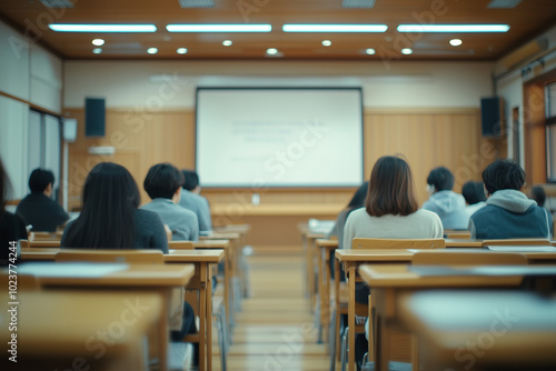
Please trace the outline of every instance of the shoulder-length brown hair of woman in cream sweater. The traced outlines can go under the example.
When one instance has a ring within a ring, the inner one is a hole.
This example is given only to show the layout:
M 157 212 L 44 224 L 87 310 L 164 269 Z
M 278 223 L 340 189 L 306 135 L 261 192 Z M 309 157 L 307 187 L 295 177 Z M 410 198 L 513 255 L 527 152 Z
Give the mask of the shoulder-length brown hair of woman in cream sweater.
M 405 217 L 418 208 L 409 164 L 397 156 L 379 158 L 370 173 L 367 213 L 371 217 Z

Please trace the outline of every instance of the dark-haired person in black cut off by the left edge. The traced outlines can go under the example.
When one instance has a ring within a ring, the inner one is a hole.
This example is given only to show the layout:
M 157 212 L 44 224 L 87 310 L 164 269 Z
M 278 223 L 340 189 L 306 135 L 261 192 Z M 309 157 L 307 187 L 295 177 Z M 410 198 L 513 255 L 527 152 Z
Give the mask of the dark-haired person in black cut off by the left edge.
M 6 210 L 10 180 L 0 159 L 0 265 L 8 264 L 10 242 L 27 239 L 26 224 L 18 215 Z

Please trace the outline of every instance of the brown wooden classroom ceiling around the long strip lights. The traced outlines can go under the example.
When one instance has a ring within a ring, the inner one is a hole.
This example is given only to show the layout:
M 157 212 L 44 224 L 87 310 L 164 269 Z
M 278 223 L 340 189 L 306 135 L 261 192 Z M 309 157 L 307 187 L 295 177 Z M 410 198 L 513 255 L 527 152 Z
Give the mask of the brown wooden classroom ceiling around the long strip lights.
M 47 8 L 66 1 L 71 8 Z M 182 8 L 187 3 L 214 3 Z M 494 4 L 514 8 L 492 8 Z M 371 8 L 346 8 L 368 3 Z M 490 7 L 489 7 L 490 4 Z M 555 0 L 1 0 L 0 17 L 64 59 L 497 60 L 556 24 Z M 54 32 L 50 23 L 152 23 L 152 33 Z M 268 33 L 170 33 L 169 23 L 269 23 Z M 380 23 L 384 33 L 288 33 L 285 23 Z M 504 23 L 504 33 L 400 33 L 400 23 Z M 100 53 L 91 41 L 105 40 Z M 459 47 L 449 40 L 461 40 Z M 231 46 L 224 46 L 230 40 Z M 329 40 L 329 47 L 322 46 Z M 546 49 L 538 40 L 527 52 Z M 158 53 L 148 54 L 148 48 Z M 187 48 L 178 54 L 178 48 Z M 276 48 L 274 57 L 266 53 Z M 367 54 L 367 49 L 375 54 Z M 411 48 L 413 53 L 400 53 Z M 520 48 L 523 49 L 523 48 Z M 523 52 L 523 51 L 522 51 Z

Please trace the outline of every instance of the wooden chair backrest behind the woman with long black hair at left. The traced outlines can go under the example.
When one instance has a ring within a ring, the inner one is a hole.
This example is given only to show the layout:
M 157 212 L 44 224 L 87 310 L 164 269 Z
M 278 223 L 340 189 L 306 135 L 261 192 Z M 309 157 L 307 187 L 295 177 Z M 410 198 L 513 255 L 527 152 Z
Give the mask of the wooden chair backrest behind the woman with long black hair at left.
M 165 257 L 160 250 L 60 250 L 56 254 L 60 261 L 95 261 L 140 264 L 162 264 Z

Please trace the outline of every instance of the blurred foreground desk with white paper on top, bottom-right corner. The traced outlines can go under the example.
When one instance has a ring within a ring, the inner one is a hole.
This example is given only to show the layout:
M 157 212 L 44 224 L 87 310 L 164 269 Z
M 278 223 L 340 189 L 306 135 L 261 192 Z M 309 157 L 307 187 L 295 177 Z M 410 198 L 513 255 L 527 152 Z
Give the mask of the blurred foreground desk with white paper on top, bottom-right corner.
M 556 369 L 556 300 L 517 291 L 420 291 L 397 301 L 425 370 Z M 473 348 L 469 348 L 473 344 Z

